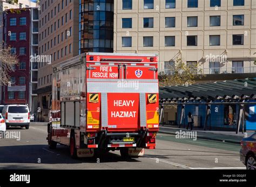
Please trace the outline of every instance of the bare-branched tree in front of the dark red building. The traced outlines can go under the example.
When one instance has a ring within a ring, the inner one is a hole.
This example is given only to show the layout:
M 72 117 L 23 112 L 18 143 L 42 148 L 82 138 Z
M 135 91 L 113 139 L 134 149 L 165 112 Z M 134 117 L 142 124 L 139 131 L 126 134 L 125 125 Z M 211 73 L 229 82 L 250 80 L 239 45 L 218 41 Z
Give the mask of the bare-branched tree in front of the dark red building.
M 19 62 L 16 55 L 11 54 L 11 47 L 0 49 L 0 85 L 10 85 L 10 72 Z

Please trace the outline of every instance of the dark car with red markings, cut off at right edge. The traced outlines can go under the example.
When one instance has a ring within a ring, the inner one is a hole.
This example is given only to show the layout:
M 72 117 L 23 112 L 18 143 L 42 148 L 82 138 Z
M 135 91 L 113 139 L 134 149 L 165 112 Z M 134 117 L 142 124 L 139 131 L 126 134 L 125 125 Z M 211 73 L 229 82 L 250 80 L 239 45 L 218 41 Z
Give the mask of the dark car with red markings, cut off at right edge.
M 245 164 L 246 169 L 256 170 L 256 133 L 241 141 L 240 160 Z

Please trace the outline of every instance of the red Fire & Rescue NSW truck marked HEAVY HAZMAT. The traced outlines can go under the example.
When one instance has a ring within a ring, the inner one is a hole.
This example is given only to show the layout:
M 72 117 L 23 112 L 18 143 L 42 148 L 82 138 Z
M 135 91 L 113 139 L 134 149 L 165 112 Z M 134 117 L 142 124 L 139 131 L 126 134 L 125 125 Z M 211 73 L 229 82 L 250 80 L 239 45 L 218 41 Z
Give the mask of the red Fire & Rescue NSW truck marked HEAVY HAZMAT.
M 53 66 L 48 144 L 71 157 L 140 156 L 156 147 L 158 56 L 86 53 Z

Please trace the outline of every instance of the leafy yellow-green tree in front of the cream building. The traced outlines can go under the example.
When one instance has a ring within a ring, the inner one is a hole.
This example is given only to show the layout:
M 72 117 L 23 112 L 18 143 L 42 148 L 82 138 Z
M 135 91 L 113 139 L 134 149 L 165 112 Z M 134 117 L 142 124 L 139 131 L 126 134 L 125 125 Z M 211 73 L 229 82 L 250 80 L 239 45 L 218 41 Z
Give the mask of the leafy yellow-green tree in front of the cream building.
M 159 85 L 189 85 L 195 83 L 196 78 L 203 77 L 203 69 L 199 68 L 199 63 L 186 65 L 180 58 L 175 66 L 170 67 L 170 75 L 159 75 Z

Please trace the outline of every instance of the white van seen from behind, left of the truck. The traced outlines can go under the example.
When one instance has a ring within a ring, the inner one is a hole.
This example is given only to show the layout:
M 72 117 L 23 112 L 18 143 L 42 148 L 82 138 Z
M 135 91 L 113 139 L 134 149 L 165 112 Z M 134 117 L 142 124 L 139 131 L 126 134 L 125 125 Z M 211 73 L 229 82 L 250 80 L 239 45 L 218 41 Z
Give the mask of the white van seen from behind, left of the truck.
M 20 126 L 29 129 L 30 114 L 27 105 L 5 105 L 2 111 L 6 127 Z

